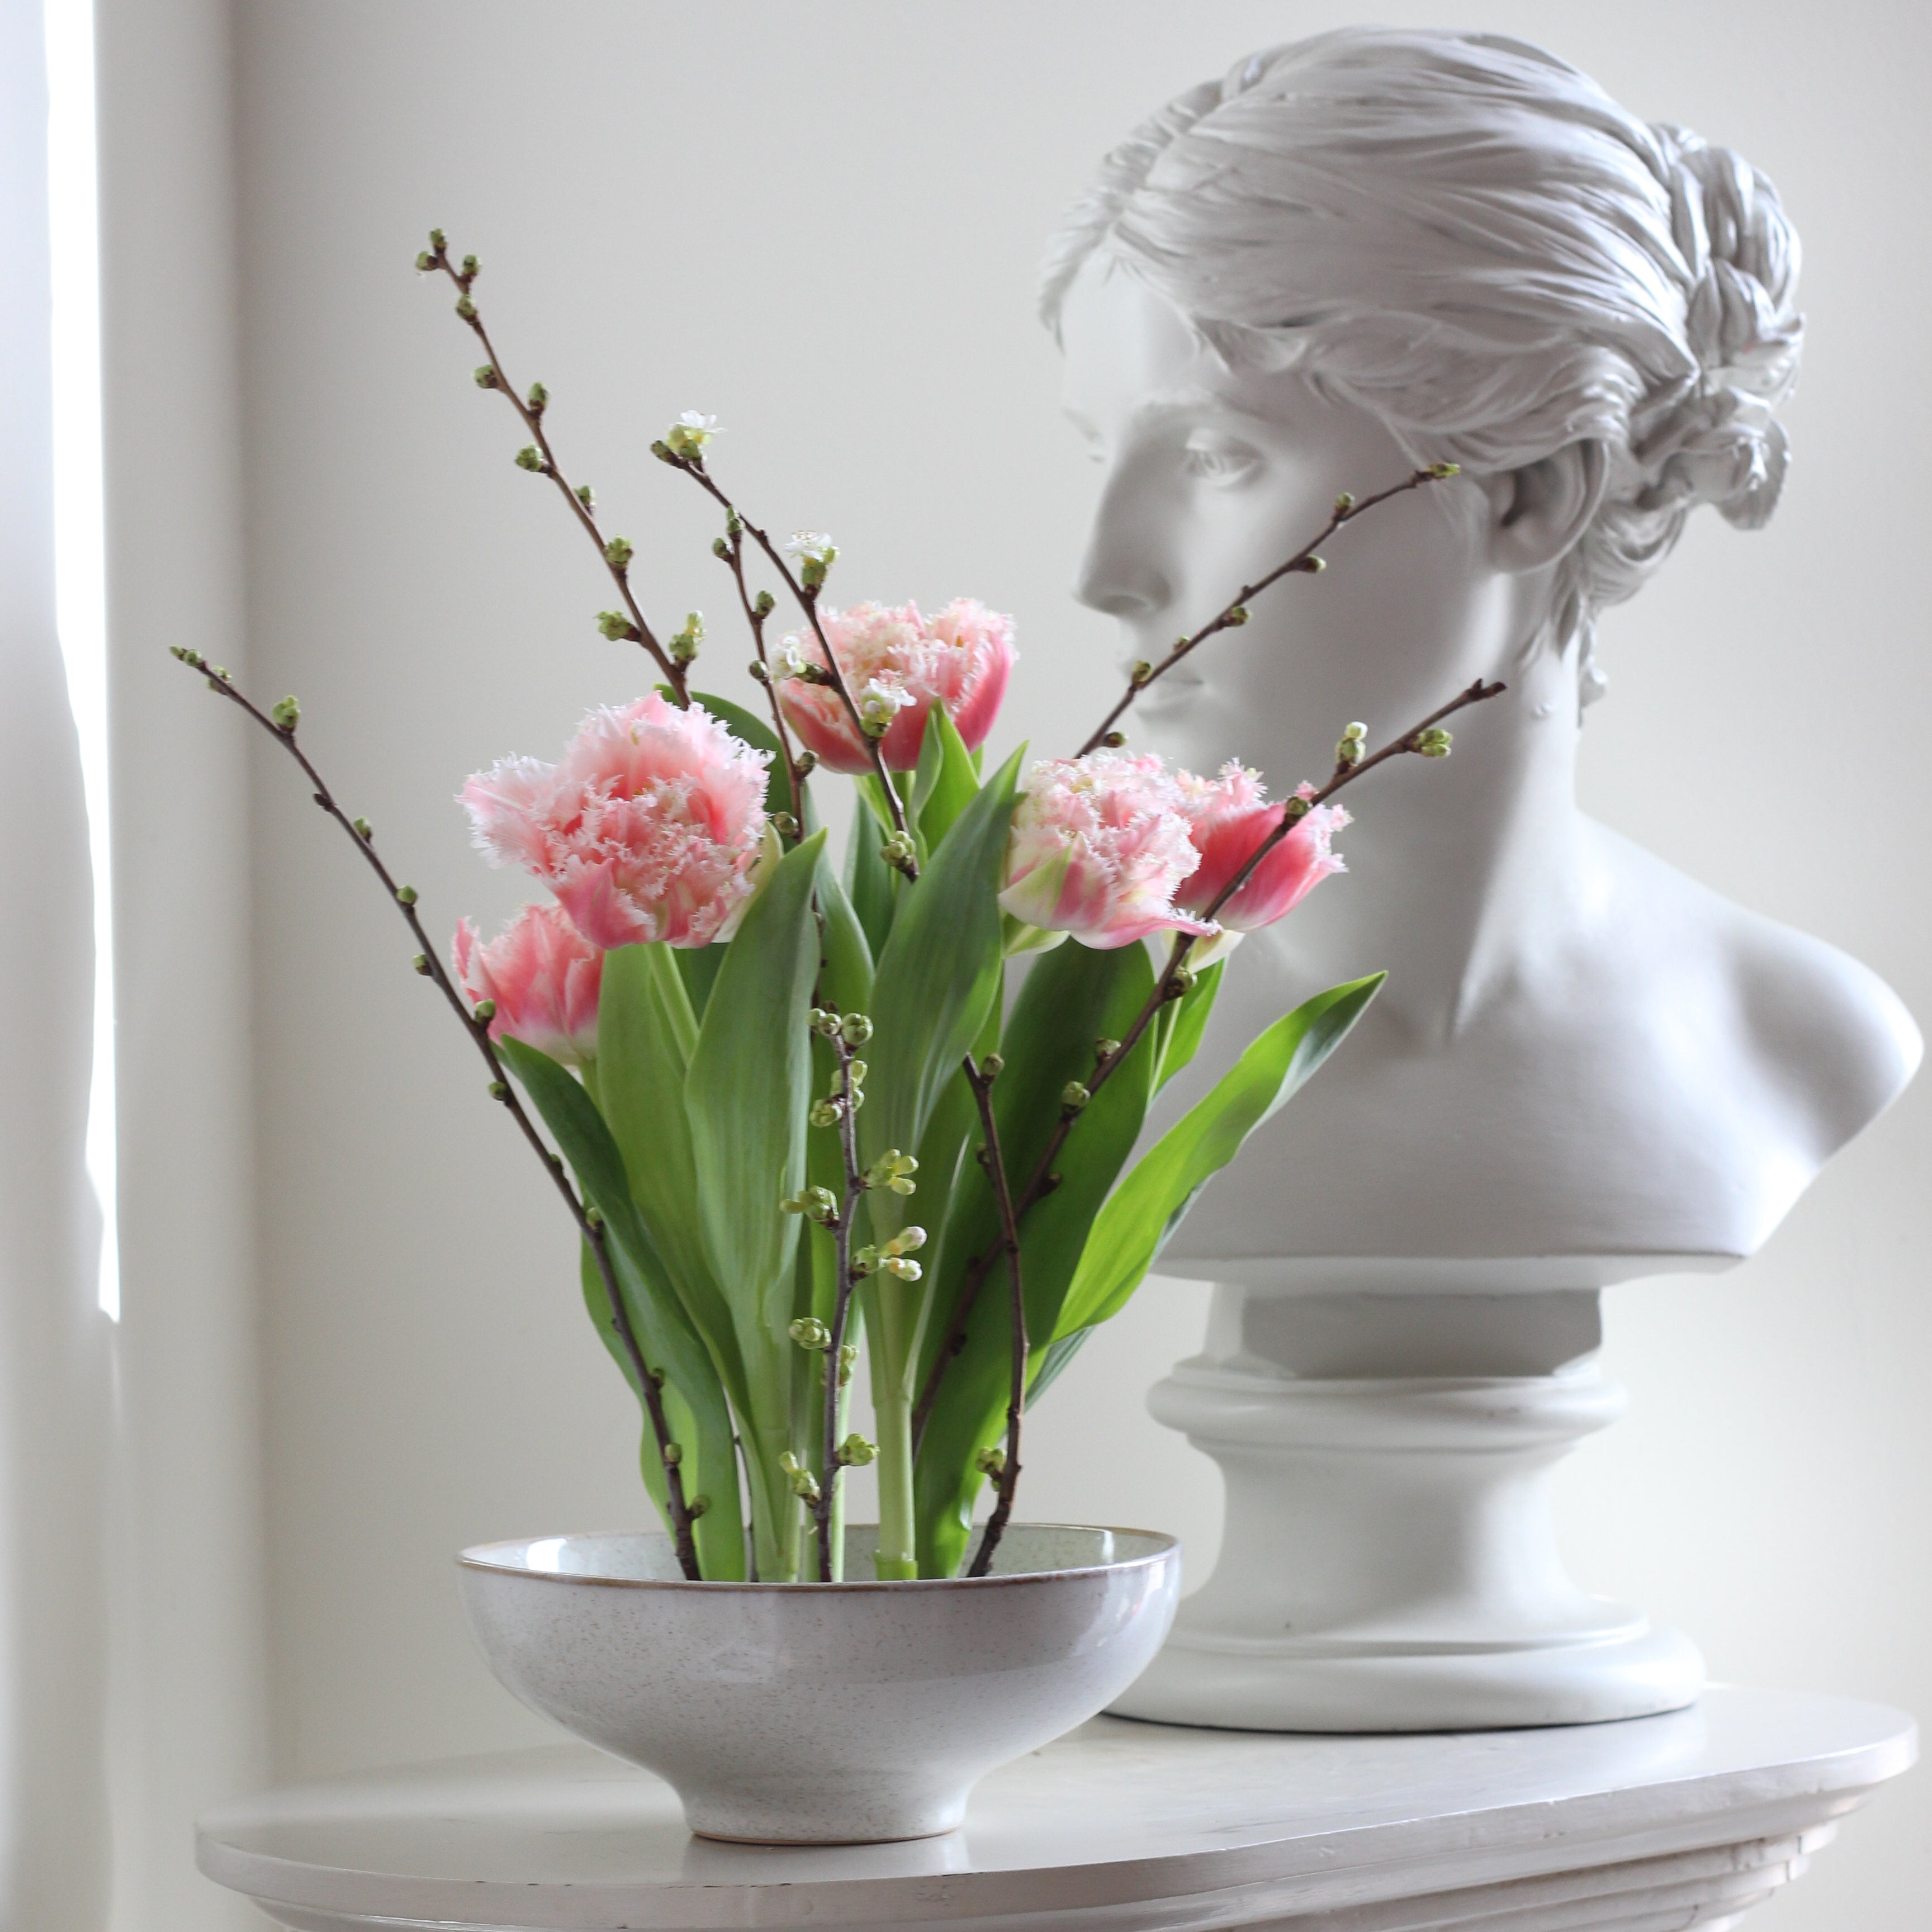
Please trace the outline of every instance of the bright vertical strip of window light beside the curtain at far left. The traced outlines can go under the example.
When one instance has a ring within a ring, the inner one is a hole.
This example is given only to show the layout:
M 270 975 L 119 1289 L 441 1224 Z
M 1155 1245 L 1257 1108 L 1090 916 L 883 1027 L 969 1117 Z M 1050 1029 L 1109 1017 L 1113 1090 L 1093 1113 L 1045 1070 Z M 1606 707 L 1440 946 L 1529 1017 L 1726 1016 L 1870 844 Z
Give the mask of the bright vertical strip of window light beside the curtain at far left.
M 81 736 L 95 873 L 95 1076 L 87 1177 L 100 1202 L 100 1308 L 120 1320 L 114 1148 L 114 871 L 108 844 L 108 626 L 100 506 L 100 218 L 93 0 L 44 0 L 46 199 L 54 284 L 54 620 Z

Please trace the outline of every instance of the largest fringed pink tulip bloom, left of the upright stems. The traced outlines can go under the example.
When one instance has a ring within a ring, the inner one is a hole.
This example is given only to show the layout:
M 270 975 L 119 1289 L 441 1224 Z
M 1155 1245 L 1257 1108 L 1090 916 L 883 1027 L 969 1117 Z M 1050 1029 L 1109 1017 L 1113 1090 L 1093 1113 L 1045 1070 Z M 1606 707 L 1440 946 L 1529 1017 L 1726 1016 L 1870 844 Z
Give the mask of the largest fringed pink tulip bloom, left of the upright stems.
M 477 848 L 543 879 L 593 947 L 728 939 L 763 877 L 765 765 L 709 711 L 593 711 L 556 765 L 502 759 L 462 790 Z

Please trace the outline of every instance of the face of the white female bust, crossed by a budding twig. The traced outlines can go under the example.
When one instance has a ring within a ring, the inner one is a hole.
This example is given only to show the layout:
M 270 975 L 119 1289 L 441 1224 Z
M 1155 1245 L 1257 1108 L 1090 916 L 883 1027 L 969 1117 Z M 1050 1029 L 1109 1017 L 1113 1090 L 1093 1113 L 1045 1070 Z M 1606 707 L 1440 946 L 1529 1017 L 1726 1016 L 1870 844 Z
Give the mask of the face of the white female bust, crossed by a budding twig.
M 1105 479 L 1076 595 L 1122 624 L 1122 668 L 1157 661 L 1323 524 L 1410 462 L 1368 412 L 1294 371 L 1227 369 L 1169 301 L 1092 257 L 1061 313 L 1066 413 Z M 1128 721 L 1196 771 L 1227 757 L 1275 792 L 1321 777 L 1343 724 L 1372 738 L 1513 655 L 1522 585 L 1488 556 L 1486 500 L 1435 489 L 1333 541 L 1320 578 L 1256 599 L 1246 630 L 1161 680 Z

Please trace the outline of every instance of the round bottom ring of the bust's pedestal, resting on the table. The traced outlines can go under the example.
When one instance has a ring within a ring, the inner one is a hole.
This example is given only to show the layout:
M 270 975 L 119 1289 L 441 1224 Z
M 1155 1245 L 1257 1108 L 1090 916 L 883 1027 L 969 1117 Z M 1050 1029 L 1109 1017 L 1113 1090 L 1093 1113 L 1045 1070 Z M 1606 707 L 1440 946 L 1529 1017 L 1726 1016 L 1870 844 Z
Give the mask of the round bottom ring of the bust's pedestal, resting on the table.
M 1175 1631 L 1111 1710 L 1223 1731 L 1515 1731 L 1694 1704 L 1704 1660 L 1652 1625 L 1522 1650 L 1298 1650 Z

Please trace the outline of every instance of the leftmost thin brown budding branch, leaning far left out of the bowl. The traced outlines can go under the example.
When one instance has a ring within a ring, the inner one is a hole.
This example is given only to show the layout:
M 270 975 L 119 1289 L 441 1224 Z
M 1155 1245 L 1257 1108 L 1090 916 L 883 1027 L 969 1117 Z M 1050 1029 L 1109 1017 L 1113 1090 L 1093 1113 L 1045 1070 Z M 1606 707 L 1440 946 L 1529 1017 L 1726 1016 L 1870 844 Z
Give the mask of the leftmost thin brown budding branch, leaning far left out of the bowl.
M 375 850 L 373 833 L 369 833 L 365 825 L 352 819 L 342 806 L 336 804 L 334 792 L 328 790 L 323 775 L 309 761 L 307 752 L 303 752 L 296 742 L 296 724 L 284 724 L 259 705 L 251 703 L 238 690 L 234 678 L 230 678 L 218 665 L 211 665 L 199 651 L 178 649 L 174 655 L 191 670 L 199 670 L 209 680 L 211 692 L 226 697 L 232 705 L 245 711 L 301 767 L 313 788 L 315 802 L 336 821 L 336 825 L 342 827 L 355 850 L 361 852 L 369 867 L 383 881 L 383 889 L 388 893 L 390 902 L 415 935 L 415 943 L 421 947 L 421 952 L 417 952 L 417 972 L 435 981 L 437 991 L 456 1014 L 477 1053 L 483 1055 L 483 1065 L 489 1068 L 491 1076 L 491 1097 L 500 1101 L 510 1111 L 510 1119 L 516 1121 L 524 1140 L 529 1142 L 531 1151 L 539 1161 L 543 1161 L 543 1169 L 551 1177 L 551 1184 L 562 1196 L 564 1206 L 578 1223 L 578 1233 L 589 1244 L 591 1256 L 597 1262 L 597 1273 L 603 1281 L 605 1296 L 611 1302 L 611 1327 L 614 1329 L 624 1354 L 630 1358 L 632 1372 L 638 1378 L 638 1395 L 643 1401 L 645 1414 L 651 1418 L 651 1434 L 657 1437 L 657 1453 L 665 1468 L 665 1495 L 670 1513 L 670 1532 L 678 1549 L 678 1567 L 696 1582 L 699 1578 L 697 1544 L 692 1538 L 692 1513 L 684 1501 L 684 1474 L 667 1453 L 672 1449 L 672 1435 L 670 1424 L 665 1416 L 663 1381 L 661 1376 L 645 1362 L 643 1349 L 638 1345 L 638 1333 L 630 1321 L 630 1312 L 624 1308 L 624 1296 L 618 1291 L 616 1269 L 611 1262 L 609 1236 L 605 1235 L 603 1217 L 593 1213 L 591 1204 L 570 1184 L 570 1177 L 564 1173 L 564 1163 L 543 1144 L 543 1136 L 537 1132 L 535 1122 L 524 1111 L 524 1103 L 516 1095 L 508 1070 L 497 1055 L 497 1045 L 489 1037 L 489 1022 L 479 1020 L 469 1007 L 464 1005 L 464 997 L 456 989 L 456 981 L 437 956 L 437 947 L 423 929 L 423 918 L 417 912 L 415 889 L 396 883 L 388 866 L 383 864 Z

